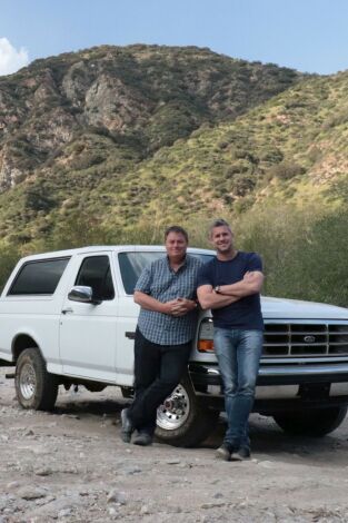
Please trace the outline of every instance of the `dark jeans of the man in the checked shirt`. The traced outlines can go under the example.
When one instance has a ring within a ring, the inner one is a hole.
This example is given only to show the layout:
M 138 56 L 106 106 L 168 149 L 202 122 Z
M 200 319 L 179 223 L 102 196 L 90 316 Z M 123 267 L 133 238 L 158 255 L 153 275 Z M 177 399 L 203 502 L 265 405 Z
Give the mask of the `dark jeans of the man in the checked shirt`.
M 157 408 L 176 388 L 185 373 L 191 343 L 158 345 L 142 336 L 135 342 L 135 392 L 128 416 L 138 431 L 153 435 Z

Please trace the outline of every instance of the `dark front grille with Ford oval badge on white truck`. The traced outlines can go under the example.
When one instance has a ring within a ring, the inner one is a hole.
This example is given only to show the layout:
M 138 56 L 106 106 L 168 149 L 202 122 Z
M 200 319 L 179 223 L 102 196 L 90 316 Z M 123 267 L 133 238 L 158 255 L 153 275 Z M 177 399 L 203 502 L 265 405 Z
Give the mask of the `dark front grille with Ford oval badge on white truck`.
M 348 355 L 348 325 L 267 324 L 264 357 Z

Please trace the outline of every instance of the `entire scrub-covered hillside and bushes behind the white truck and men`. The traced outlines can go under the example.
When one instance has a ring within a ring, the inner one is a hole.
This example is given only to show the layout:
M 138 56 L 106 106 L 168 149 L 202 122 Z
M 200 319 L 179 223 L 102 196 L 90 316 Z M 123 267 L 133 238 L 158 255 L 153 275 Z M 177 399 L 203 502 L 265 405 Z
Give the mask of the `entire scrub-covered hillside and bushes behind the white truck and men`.
M 319 77 L 208 49 L 100 47 L 0 78 L 0 286 L 19 256 L 207 245 L 232 220 L 265 294 L 348 306 L 348 71 Z

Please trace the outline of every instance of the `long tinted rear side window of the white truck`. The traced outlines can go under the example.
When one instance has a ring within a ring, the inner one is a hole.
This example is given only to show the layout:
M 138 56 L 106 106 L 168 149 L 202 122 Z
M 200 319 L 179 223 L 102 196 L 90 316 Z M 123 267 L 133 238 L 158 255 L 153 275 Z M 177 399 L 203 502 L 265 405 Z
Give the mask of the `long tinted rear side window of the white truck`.
M 8 296 L 51 295 L 70 258 L 28 262 L 20 269 L 8 292 Z

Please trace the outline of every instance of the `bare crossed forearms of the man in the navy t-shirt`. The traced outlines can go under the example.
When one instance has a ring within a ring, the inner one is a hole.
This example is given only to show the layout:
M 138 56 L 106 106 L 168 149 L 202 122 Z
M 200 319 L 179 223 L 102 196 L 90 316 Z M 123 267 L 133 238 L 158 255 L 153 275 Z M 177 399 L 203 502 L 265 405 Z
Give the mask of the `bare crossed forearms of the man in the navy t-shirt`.
M 221 285 L 219 294 L 211 285 L 201 285 L 197 289 L 198 300 L 202 309 L 226 307 L 245 296 L 259 293 L 262 283 L 264 275 L 260 270 L 248 272 L 239 282 Z

